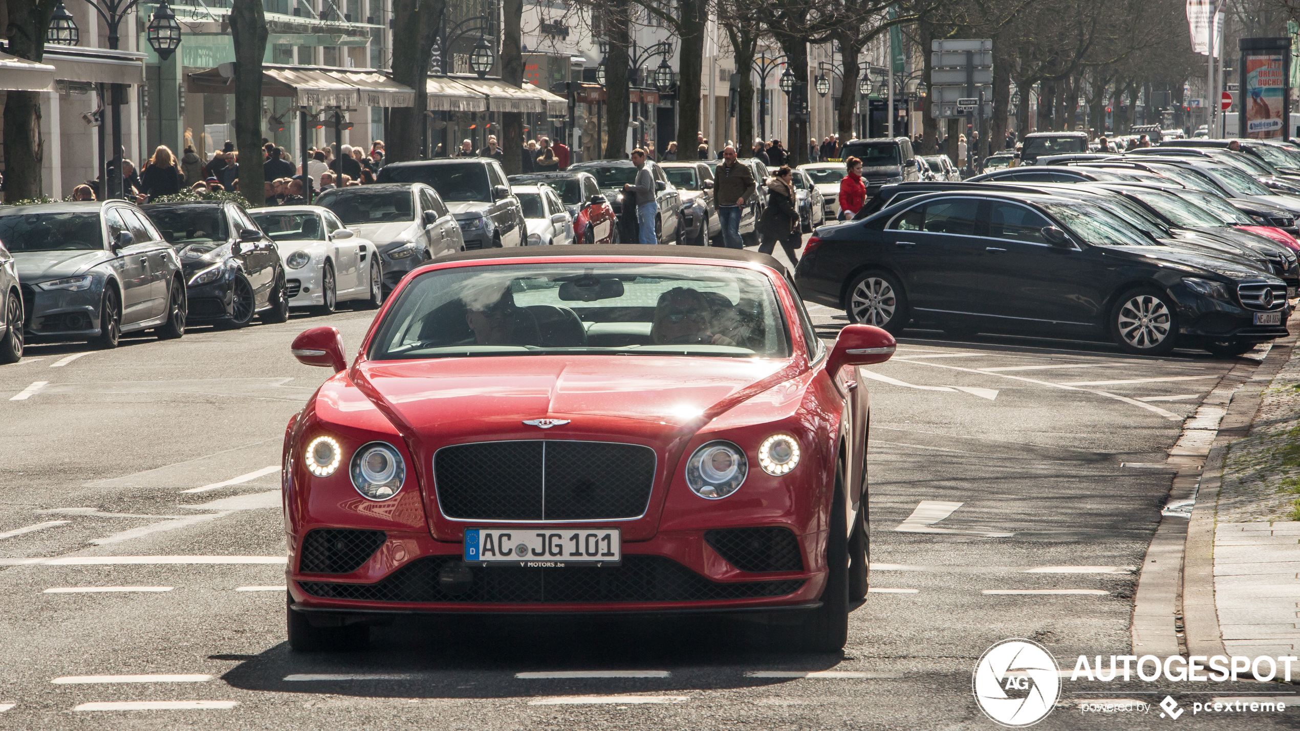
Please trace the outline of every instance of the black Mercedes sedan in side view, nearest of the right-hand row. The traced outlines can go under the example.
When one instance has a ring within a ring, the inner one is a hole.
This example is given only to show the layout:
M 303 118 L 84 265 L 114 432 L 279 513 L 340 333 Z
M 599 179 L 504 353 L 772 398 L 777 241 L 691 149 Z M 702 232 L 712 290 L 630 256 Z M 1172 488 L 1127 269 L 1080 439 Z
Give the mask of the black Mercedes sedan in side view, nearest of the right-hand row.
M 1109 339 L 1130 353 L 1242 353 L 1287 335 L 1286 284 L 1154 242 L 1086 200 L 927 193 L 819 229 L 796 284 L 850 322 L 900 332 Z

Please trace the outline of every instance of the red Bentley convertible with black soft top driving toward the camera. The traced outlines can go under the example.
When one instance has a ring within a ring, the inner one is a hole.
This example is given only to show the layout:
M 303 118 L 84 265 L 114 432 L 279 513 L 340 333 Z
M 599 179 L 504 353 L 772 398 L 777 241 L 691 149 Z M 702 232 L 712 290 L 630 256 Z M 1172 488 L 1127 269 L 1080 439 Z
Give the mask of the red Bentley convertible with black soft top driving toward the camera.
M 781 265 L 540 247 L 408 274 L 283 451 L 287 630 L 355 645 L 395 613 L 785 613 L 844 645 L 867 593 L 867 390 L 894 351 L 818 340 Z

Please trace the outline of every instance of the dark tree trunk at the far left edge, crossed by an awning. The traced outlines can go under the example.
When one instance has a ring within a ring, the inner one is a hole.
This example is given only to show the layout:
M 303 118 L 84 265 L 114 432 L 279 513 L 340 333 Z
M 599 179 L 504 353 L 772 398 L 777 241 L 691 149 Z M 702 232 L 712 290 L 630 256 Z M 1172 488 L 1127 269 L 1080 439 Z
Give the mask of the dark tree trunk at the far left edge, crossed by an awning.
M 46 29 L 57 0 L 9 0 L 5 35 L 8 52 L 29 61 L 46 53 Z M 39 91 L 10 91 L 4 104 L 4 200 L 14 203 L 43 195 L 40 167 L 44 144 L 40 139 Z M 58 144 L 60 140 L 55 140 Z

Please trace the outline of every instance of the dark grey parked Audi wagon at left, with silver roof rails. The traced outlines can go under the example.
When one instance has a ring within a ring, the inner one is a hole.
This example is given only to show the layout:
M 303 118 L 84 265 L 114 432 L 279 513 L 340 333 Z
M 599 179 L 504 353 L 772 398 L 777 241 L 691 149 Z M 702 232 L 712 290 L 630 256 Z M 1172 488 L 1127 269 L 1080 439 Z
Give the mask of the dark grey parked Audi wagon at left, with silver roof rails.
M 113 200 L 4 206 L 0 242 L 12 257 L 4 269 L 16 270 L 21 283 L 26 341 L 86 340 L 116 348 L 124 332 L 185 335 L 181 261 L 135 205 Z M 5 287 L 6 303 L 12 292 Z M 13 317 L 6 304 L 6 327 Z M 5 339 L 4 348 L 14 345 L 21 343 Z

